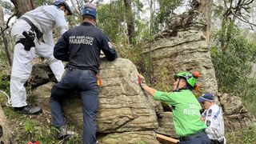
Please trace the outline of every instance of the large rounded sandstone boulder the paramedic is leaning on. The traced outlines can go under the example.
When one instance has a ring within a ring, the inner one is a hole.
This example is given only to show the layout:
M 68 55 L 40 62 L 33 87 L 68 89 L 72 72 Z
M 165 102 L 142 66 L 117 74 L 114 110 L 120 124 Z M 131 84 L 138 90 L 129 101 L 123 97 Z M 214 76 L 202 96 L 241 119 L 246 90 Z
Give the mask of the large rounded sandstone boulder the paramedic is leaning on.
M 48 75 L 42 74 L 44 77 Z M 153 131 L 158 128 L 154 110 L 157 104 L 138 85 L 138 70 L 134 64 L 125 58 L 114 62 L 102 58 L 99 77 L 102 86 L 97 114 L 98 140 L 103 143 L 158 143 Z M 30 79 L 30 82 L 37 86 L 34 80 Z M 53 82 L 47 82 L 32 90 L 30 96 L 34 103 L 49 108 L 53 85 Z M 78 94 L 64 101 L 64 111 L 70 124 L 82 130 L 82 102 Z

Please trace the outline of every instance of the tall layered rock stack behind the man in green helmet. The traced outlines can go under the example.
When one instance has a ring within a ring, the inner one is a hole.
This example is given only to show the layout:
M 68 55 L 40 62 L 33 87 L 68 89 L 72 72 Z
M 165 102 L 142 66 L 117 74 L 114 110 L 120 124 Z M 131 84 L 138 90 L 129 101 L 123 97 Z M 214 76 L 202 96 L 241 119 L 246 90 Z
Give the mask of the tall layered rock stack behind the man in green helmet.
M 174 74 L 197 70 L 201 74 L 198 84 L 202 90 L 218 92 L 205 29 L 206 21 L 196 11 L 168 19 L 166 30 L 158 34 L 153 42 L 148 42 L 143 51 L 146 58 L 152 60 L 155 81 L 171 87 Z M 170 87 L 166 88 L 170 90 Z

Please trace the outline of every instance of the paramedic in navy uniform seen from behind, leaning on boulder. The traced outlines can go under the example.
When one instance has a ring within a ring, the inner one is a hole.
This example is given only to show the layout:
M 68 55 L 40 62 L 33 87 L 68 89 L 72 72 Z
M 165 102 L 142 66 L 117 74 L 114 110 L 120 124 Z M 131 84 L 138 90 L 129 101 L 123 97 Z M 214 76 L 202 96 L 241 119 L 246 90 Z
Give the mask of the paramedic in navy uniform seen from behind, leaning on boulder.
M 50 96 L 50 109 L 53 125 L 60 131 L 58 138 L 68 135 L 67 120 L 64 117 L 61 102 L 78 91 L 82 100 L 83 144 L 96 143 L 96 111 L 98 110 L 98 74 L 100 51 L 106 59 L 114 61 L 118 52 L 110 43 L 106 34 L 95 25 L 96 7 L 87 2 L 82 9 L 83 22 L 66 31 L 54 46 L 54 57 L 68 62 L 61 82 L 53 86 Z

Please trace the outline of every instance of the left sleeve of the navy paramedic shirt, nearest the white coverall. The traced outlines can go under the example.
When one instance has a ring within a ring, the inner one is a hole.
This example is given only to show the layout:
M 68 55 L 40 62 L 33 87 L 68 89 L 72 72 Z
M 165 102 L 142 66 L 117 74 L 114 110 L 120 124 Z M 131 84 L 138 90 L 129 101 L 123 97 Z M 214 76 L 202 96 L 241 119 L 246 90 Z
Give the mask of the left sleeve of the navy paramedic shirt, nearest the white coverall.
M 69 39 L 66 32 L 62 35 L 62 38 L 58 39 L 58 42 L 54 46 L 54 58 L 62 61 L 68 61 L 69 56 Z

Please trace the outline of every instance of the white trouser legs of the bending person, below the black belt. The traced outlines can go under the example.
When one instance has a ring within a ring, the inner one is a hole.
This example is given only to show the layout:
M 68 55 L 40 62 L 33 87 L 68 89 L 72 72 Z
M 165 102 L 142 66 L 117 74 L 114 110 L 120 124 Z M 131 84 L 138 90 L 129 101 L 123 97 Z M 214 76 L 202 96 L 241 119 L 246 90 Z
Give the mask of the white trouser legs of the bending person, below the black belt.
M 24 38 L 23 31 L 30 30 L 30 25 L 22 19 L 16 22 L 11 30 L 11 35 L 17 42 L 20 38 Z M 53 56 L 54 46 L 46 45 L 43 42 L 38 42 L 35 39 L 35 48 L 32 47 L 30 51 L 24 50 L 22 43 L 18 43 L 14 46 L 14 60 L 11 70 L 10 78 L 10 99 L 13 107 L 26 106 L 26 89 L 24 87 L 25 82 L 30 78 L 32 70 L 32 61 L 34 55 L 38 54 L 47 59 L 51 70 L 58 81 L 60 81 L 64 72 L 64 66 L 61 61 L 58 61 Z

